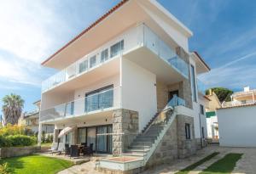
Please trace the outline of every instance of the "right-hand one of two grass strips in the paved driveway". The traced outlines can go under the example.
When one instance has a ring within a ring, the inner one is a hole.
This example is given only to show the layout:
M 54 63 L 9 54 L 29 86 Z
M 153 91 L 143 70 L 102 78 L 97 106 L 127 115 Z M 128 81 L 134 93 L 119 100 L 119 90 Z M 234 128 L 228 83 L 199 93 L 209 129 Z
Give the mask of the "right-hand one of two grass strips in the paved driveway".
M 226 154 L 224 158 L 216 161 L 201 174 L 226 174 L 234 170 L 236 161 L 241 159 L 242 154 Z

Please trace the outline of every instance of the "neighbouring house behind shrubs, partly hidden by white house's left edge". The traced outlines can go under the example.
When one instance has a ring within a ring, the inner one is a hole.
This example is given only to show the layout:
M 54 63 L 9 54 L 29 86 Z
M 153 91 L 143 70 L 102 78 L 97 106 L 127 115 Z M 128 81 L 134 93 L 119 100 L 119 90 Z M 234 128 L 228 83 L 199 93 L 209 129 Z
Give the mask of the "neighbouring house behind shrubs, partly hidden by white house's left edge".
M 40 103 L 41 100 L 33 103 L 36 105 L 36 109 L 32 110 L 31 112 L 24 113 L 20 119 L 20 125 L 24 125 L 32 130 L 34 133 L 38 133 L 38 126 L 39 126 L 39 111 L 40 111 Z M 54 125 L 44 124 L 42 126 L 42 132 L 45 133 L 53 133 L 54 132 Z

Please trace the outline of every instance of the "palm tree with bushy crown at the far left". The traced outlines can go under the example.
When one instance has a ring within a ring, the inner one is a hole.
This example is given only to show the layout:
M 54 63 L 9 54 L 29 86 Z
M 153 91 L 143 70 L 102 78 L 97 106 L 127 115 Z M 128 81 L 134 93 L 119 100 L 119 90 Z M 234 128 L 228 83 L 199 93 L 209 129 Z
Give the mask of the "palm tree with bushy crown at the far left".
M 20 97 L 20 95 L 15 95 L 14 93 L 11 93 L 10 95 L 4 96 L 2 101 L 4 125 L 18 124 L 24 106 L 24 100 Z

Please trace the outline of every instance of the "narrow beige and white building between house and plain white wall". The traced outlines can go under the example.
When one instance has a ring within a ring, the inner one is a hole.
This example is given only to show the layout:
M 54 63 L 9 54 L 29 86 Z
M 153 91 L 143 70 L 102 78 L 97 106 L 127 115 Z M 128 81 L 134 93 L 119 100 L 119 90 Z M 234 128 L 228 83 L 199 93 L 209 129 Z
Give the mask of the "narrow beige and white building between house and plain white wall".
M 218 139 L 218 117 L 216 115 L 216 109 L 221 108 L 221 104 L 218 100 L 216 93 L 209 90 L 207 98 L 210 99 L 207 106 L 207 138 Z

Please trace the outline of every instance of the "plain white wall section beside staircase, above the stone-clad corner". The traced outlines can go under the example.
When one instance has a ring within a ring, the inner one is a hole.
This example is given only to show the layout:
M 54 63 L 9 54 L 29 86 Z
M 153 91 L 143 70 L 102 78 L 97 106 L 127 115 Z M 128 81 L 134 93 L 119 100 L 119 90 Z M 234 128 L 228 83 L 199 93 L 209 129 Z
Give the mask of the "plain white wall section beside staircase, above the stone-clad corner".
M 138 112 L 139 131 L 157 112 L 155 84 L 153 73 L 130 60 L 122 60 L 122 108 Z

